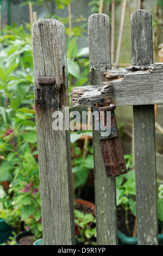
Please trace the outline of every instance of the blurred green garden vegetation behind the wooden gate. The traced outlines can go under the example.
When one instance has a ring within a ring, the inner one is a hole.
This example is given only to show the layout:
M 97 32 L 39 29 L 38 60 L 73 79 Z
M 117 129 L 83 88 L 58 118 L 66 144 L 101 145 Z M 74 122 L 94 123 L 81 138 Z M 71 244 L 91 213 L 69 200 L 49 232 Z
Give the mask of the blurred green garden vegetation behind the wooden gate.
M 112 68 L 124 68 L 131 65 L 130 14 L 140 8 L 151 11 L 154 62 L 163 62 L 158 54 L 159 45 L 163 42 L 163 1 L 128 0 L 125 5 L 124 2 L 104 0 L 101 6 L 99 0 L 0 1 L 0 183 L 4 188 L 4 198 L 0 202 L 0 218 L 11 224 L 16 234 L 24 228 L 32 230 L 36 237 L 41 237 L 42 233 L 33 94 L 32 23 L 40 19 L 57 19 L 64 23 L 70 95 L 74 86 L 89 86 L 87 20 L 92 13 L 102 12 L 109 15 Z M 121 18 L 122 11 L 124 11 L 124 20 Z M 163 180 L 162 107 L 156 106 L 155 109 L 158 124 L 157 172 L 161 181 Z M 134 169 L 132 107 L 117 107 L 116 118 L 127 167 Z M 94 202 L 92 131 L 72 131 L 71 151 L 74 193 L 77 197 Z M 126 187 L 122 189 L 122 184 L 123 178 L 120 178 L 117 181 L 117 204 L 124 202 L 128 205 L 130 202 L 135 214 L 135 204 L 128 200 Z M 131 184 L 133 186 L 133 177 Z M 135 192 L 131 192 L 133 193 Z

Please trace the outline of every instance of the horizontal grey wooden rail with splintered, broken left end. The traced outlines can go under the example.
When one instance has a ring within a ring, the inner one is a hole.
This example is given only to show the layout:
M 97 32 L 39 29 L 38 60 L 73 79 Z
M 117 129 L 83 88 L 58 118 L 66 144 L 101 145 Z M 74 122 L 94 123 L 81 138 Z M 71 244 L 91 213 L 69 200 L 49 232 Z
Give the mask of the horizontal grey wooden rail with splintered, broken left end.
M 71 107 L 90 107 L 91 100 L 108 96 L 116 106 L 163 103 L 163 63 L 129 66 L 102 73 L 105 79 L 98 85 L 71 90 Z

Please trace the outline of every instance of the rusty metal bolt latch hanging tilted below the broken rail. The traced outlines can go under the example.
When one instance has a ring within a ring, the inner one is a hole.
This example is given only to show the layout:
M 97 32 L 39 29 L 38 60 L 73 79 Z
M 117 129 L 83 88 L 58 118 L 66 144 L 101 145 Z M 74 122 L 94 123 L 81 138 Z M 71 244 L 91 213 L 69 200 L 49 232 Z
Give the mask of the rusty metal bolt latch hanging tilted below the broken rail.
M 119 176 L 127 173 L 114 113 L 116 106 L 112 102 L 112 98 L 105 97 L 93 100 L 91 105 L 92 111 L 98 112 L 98 117 L 95 118 L 95 125 L 97 126 L 106 175 Z

